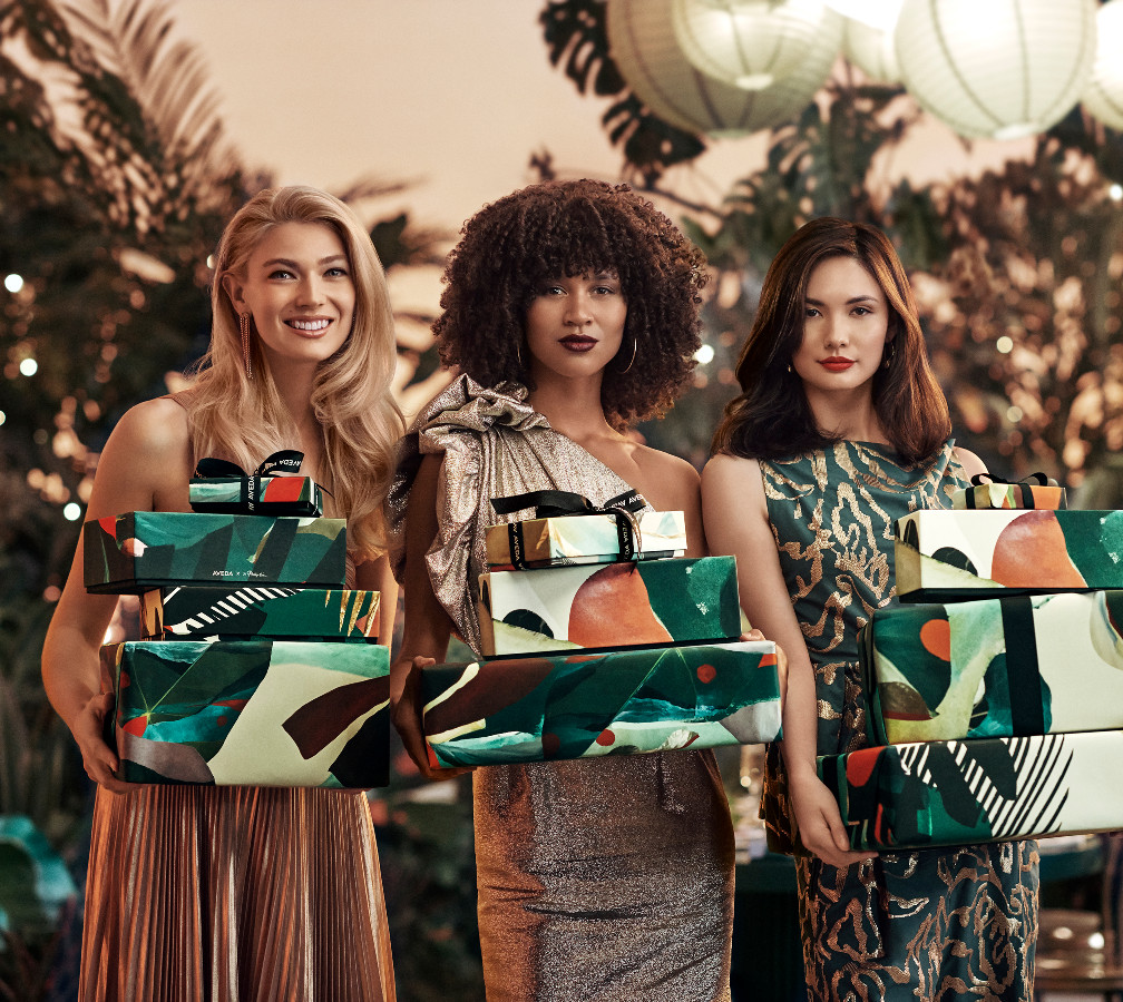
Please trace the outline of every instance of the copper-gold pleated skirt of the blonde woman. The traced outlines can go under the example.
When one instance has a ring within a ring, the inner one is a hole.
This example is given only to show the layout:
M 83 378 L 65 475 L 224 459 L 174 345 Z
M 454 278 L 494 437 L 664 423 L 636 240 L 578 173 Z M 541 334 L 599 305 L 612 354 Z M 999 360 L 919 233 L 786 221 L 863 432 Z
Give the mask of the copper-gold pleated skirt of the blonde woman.
M 80 998 L 393 1002 L 365 796 L 99 788 Z

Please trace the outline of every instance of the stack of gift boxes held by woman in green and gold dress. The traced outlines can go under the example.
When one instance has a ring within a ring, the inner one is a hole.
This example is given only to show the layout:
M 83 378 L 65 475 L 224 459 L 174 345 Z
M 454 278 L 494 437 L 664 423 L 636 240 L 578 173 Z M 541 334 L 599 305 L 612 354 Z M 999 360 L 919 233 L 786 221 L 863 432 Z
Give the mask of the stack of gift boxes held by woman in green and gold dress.
M 1041 476 L 897 522 L 903 605 L 859 637 L 870 746 L 819 760 L 852 847 L 1123 827 L 1121 554 L 1123 512 Z

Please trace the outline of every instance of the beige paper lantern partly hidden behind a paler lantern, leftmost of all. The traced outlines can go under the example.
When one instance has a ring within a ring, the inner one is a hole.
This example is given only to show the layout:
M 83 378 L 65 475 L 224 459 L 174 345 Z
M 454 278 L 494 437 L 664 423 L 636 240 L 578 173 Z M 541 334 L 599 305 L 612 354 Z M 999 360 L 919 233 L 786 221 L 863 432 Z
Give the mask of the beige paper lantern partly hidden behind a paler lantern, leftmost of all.
M 628 86 L 652 113 L 688 132 L 743 136 L 800 116 L 834 65 L 842 17 L 827 11 L 800 66 L 759 91 L 706 76 L 675 38 L 672 0 L 609 0 L 609 52 Z

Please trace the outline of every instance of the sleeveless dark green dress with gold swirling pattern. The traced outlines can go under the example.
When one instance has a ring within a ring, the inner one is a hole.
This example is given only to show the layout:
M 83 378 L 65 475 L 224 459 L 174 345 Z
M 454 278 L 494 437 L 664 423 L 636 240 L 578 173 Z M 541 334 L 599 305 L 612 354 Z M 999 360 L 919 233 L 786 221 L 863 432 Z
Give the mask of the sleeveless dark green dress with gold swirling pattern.
M 819 752 L 865 747 L 857 635 L 896 601 L 893 523 L 951 507 L 967 486 L 949 441 L 902 466 L 885 445 L 839 442 L 761 460 L 768 518 L 815 672 Z M 787 816 L 783 762 L 766 763 L 763 812 Z M 789 829 L 788 829 L 789 831 Z M 787 833 L 769 831 L 780 840 Z M 814 1000 L 1029 1000 L 1038 935 L 1034 842 L 882 853 L 843 870 L 797 855 L 800 927 Z

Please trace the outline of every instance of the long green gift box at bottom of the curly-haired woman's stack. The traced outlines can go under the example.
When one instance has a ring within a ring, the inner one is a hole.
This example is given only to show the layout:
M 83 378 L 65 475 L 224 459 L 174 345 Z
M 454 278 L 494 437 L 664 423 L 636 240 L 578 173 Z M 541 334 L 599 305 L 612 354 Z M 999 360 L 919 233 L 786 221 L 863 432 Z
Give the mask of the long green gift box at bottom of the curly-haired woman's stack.
M 500 765 L 773 741 L 766 641 L 551 654 L 421 670 L 436 766 Z

